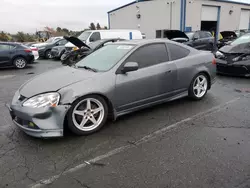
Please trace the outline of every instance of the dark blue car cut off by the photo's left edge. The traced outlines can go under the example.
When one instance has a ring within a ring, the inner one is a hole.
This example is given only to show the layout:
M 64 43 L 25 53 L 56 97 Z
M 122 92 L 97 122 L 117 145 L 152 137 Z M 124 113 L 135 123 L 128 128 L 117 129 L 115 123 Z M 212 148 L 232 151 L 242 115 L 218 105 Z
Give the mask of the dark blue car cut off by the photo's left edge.
M 19 43 L 0 42 L 0 67 L 23 69 L 34 61 L 32 50 Z

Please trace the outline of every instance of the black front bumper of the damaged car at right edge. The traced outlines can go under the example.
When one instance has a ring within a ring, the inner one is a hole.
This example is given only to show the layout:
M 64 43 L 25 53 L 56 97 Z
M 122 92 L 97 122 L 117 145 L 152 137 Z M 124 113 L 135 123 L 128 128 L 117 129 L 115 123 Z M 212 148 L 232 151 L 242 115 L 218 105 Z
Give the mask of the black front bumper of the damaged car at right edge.
M 250 66 L 244 64 L 228 64 L 225 60 L 216 59 L 216 68 L 219 74 L 250 77 Z

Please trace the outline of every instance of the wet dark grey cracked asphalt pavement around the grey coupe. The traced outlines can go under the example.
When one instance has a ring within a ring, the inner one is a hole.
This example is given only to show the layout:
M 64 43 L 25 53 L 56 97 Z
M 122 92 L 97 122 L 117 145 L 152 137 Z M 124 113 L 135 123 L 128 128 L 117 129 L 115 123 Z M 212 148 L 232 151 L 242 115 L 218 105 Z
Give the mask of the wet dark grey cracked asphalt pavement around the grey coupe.
M 1 188 L 250 187 L 250 79 L 218 76 L 202 101 L 129 114 L 91 136 L 27 136 L 4 104 L 25 81 L 60 66 L 39 60 L 0 70 Z

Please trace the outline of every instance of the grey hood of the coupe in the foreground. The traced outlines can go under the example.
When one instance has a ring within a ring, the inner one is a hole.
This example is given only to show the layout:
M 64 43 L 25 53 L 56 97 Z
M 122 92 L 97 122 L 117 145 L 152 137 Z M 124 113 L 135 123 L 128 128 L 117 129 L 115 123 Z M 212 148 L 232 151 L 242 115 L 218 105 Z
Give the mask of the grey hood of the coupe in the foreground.
M 40 93 L 58 91 L 76 82 L 90 79 L 96 74 L 100 73 L 66 66 L 34 77 L 22 85 L 19 92 L 29 98 Z

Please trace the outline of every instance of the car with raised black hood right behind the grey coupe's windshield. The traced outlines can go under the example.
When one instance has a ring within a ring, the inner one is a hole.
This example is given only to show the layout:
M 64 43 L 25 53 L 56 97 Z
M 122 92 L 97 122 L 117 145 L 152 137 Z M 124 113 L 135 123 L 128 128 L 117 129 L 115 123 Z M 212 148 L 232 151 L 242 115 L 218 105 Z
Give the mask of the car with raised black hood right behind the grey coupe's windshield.
M 64 37 L 67 41 L 71 42 L 74 44 L 78 49 L 72 50 L 72 51 L 66 51 L 62 57 L 61 61 L 63 65 L 73 65 L 86 57 L 87 55 L 91 54 L 92 52 L 102 48 L 104 45 L 108 43 L 113 43 L 117 41 L 122 41 L 124 39 L 103 39 L 103 40 L 98 40 L 95 42 L 92 42 L 90 44 L 85 44 L 82 42 L 80 39 L 76 37 Z

